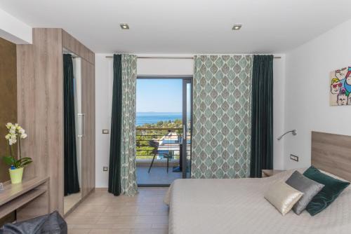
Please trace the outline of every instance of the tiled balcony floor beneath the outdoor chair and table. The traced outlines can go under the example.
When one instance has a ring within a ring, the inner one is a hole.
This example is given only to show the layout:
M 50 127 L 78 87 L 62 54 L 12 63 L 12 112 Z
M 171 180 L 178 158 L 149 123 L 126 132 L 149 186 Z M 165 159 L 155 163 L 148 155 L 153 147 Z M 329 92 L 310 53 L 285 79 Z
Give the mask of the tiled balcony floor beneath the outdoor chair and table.
M 152 167 L 150 173 L 147 173 L 149 167 L 137 167 L 136 177 L 138 184 L 172 184 L 173 180 L 182 177 L 181 172 L 173 172 L 173 167 Z

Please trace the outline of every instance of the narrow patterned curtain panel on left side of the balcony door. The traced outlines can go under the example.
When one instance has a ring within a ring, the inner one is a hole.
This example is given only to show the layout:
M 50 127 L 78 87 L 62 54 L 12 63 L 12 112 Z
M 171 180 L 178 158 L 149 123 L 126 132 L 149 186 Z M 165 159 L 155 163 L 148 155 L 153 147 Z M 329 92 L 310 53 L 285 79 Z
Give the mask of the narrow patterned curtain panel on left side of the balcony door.
M 135 151 L 135 95 L 136 95 L 135 55 L 122 55 L 122 121 L 121 121 L 121 193 L 138 193 L 136 183 Z

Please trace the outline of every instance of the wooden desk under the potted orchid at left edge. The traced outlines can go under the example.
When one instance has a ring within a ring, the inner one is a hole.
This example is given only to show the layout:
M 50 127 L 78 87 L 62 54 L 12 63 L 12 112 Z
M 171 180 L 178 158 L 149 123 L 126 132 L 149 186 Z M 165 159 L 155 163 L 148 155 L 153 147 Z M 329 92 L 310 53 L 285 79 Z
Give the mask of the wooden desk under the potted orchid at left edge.
M 27 179 L 20 184 L 7 184 L 0 192 L 0 218 L 17 211 L 17 221 L 49 213 L 48 177 Z

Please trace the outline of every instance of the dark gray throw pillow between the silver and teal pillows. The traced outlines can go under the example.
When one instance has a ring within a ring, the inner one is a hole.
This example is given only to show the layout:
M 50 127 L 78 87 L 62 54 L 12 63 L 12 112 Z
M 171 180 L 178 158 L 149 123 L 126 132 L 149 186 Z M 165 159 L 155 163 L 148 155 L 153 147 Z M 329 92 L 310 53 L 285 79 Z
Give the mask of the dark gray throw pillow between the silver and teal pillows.
M 312 179 L 308 179 L 298 171 L 291 174 L 291 177 L 286 181 L 286 184 L 289 184 L 291 187 L 303 193 L 302 198 L 300 198 L 300 200 L 298 200 L 293 206 L 293 212 L 296 214 L 301 214 L 314 195 L 317 195 L 317 193 L 319 193 L 324 187 L 324 184 L 319 184 Z

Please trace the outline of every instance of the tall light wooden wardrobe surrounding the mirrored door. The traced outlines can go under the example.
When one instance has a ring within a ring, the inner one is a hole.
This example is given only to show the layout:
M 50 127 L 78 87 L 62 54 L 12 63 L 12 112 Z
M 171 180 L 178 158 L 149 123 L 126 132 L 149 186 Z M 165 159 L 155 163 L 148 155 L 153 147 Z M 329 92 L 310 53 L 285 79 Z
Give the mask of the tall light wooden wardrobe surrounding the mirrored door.
M 62 51 L 81 57 L 81 200 L 95 188 L 95 54 L 63 29 L 33 29 L 17 45 L 18 123 L 27 130 L 22 156 L 33 158 L 24 179 L 50 177 L 49 209 L 63 215 L 64 116 Z M 38 205 L 40 206 L 40 204 Z

